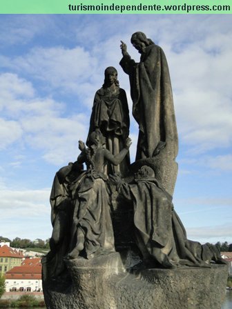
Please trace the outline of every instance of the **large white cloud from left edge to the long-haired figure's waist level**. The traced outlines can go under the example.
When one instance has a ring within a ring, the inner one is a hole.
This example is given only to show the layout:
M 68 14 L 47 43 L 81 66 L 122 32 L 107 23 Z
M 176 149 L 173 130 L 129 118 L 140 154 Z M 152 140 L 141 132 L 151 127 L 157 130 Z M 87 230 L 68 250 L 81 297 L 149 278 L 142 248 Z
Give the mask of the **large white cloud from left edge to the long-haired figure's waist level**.
M 48 98 L 35 97 L 32 84 L 16 74 L 1 74 L 0 99 L 6 118 L 0 119 L 1 148 L 23 141 L 43 150 L 43 158 L 53 164 L 76 159 L 79 139 L 86 139 L 89 119 L 86 114 L 65 117 L 64 105 Z

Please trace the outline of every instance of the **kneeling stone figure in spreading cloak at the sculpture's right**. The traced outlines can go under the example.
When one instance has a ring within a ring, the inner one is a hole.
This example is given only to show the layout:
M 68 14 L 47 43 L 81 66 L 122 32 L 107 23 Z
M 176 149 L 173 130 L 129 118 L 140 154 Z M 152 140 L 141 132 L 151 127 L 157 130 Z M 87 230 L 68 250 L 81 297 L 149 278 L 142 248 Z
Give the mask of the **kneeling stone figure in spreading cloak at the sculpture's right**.
M 215 246 L 186 238 L 186 231 L 173 208 L 172 197 L 155 179 L 155 172 L 142 166 L 128 184 L 110 176 L 117 190 L 133 202 L 135 242 L 142 253 L 141 267 L 210 267 L 213 260 L 224 263 Z

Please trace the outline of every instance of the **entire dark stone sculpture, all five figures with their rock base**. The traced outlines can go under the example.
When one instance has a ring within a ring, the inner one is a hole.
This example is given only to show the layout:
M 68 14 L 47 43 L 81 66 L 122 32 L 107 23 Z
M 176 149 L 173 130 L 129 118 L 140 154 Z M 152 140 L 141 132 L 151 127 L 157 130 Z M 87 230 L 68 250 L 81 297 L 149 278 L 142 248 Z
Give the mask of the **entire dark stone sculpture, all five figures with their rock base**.
M 53 181 L 46 308 L 220 309 L 226 263 L 215 246 L 187 238 L 172 202 L 178 139 L 165 54 L 142 32 L 131 43 L 140 62 L 122 42 L 120 65 L 139 124 L 136 160 L 126 92 L 108 67 L 86 145 Z

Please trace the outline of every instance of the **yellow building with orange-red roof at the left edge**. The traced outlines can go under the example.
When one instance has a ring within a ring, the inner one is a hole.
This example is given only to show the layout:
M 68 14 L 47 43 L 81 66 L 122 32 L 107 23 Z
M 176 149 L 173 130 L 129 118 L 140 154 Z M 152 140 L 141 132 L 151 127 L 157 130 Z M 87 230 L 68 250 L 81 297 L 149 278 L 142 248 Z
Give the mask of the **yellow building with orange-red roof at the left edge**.
M 23 260 L 22 252 L 17 252 L 12 248 L 4 245 L 0 247 L 0 273 L 5 274 L 14 266 L 20 266 Z

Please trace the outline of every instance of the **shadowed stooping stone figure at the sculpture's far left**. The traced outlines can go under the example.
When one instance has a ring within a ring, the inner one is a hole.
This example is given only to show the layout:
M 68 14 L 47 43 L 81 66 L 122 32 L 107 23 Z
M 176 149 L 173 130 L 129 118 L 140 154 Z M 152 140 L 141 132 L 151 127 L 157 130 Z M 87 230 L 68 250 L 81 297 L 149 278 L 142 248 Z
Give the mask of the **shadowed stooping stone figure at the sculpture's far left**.
M 69 163 L 60 168 L 52 183 L 50 194 L 52 236 L 50 252 L 43 257 L 43 278 L 55 279 L 64 274 L 64 257 L 68 254 L 70 243 L 70 225 L 73 217 L 73 203 L 70 183 L 83 172 L 83 164 Z

